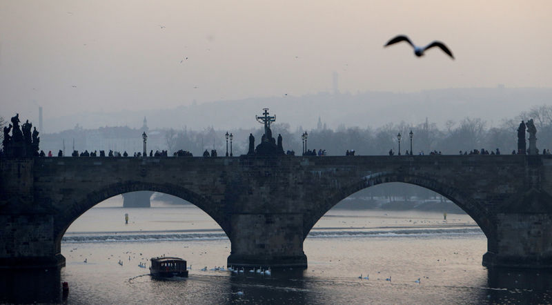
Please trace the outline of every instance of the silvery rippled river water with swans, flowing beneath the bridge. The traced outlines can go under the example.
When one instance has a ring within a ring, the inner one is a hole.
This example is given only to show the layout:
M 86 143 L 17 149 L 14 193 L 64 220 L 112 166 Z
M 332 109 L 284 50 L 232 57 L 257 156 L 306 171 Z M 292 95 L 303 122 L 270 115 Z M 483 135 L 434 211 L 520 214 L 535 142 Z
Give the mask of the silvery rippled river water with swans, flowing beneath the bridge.
M 542 271 L 487 270 L 486 237 L 467 215 L 336 210 L 304 242 L 306 270 L 231 273 L 230 241 L 195 206 L 121 208 L 113 197 L 63 237 L 68 304 L 551 303 Z M 128 213 L 129 224 L 124 224 Z M 149 275 L 150 257 L 182 257 L 187 279 Z M 85 262 L 86 259 L 86 262 Z M 122 266 L 119 264 L 122 262 Z M 207 267 L 206 271 L 201 268 Z M 362 276 L 361 276 L 362 275 Z M 359 278 L 362 277 L 362 278 Z M 365 277 L 368 277 L 366 279 Z M 391 279 L 391 280 L 388 280 Z M 419 282 L 417 282 L 417 280 Z

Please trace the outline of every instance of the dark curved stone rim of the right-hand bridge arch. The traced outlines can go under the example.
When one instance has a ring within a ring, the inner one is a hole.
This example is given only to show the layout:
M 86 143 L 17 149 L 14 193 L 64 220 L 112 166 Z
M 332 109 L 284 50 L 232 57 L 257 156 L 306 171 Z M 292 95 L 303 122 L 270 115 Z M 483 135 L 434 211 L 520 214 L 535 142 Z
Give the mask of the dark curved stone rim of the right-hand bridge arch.
M 318 205 L 316 213 L 313 214 L 313 217 L 310 217 L 309 220 L 304 222 L 303 238 L 305 239 L 318 220 L 322 218 L 328 210 L 339 203 L 339 201 L 342 201 L 342 199 L 345 199 L 346 197 L 358 192 L 359 190 L 363 190 L 364 188 L 390 182 L 402 182 L 405 184 L 421 186 L 422 188 L 433 190 L 435 193 L 438 193 L 453 201 L 454 204 L 462 208 L 462 210 L 464 210 L 464 212 L 466 212 L 481 228 L 489 242 L 489 249 L 493 249 L 493 246 L 496 246 L 491 244 L 495 238 L 490 238 L 495 236 L 494 224 L 496 222 L 495 219 L 493 219 L 493 215 L 487 213 L 483 208 L 483 203 L 481 201 L 473 199 L 471 194 L 468 194 L 453 186 L 452 181 L 450 184 L 445 184 L 433 177 L 404 175 L 404 173 L 396 172 L 371 173 L 370 175 L 354 179 L 345 186 L 340 186 L 337 191 L 330 191 L 331 193 L 320 201 L 321 203 Z

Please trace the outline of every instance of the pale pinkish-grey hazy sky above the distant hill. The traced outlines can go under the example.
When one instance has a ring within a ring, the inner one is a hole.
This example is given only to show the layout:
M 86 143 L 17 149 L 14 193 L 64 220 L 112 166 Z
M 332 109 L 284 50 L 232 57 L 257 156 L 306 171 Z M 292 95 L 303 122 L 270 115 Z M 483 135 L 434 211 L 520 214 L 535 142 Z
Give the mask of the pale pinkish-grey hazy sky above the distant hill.
M 546 0 L 0 0 L 0 115 L 285 98 L 331 91 L 334 71 L 352 93 L 552 87 L 551 13 Z M 456 60 L 382 47 L 397 34 Z

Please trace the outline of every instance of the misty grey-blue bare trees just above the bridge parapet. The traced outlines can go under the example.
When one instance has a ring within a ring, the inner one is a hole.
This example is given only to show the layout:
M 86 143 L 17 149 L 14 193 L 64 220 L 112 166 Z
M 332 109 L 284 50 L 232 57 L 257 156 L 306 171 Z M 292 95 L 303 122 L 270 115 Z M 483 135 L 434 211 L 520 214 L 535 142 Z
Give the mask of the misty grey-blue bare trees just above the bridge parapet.
M 303 150 L 302 134 L 307 132 L 307 149 L 326 150 L 327 155 L 345 155 L 346 150 L 355 150 L 355 155 L 387 155 L 389 150 L 395 154 L 399 151 L 397 135 L 401 135 L 400 150 L 404 155 L 406 150 L 412 150 L 415 155 L 428 155 L 433 151 L 443 155 L 457 155 L 474 149 L 494 151 L 496 148 L 502 154 L 510 154 L 517 150 L 517 128 L 522 120 L 533 119 L 537 127 L 537 147 L 540 152 L 551 148 L 552 144 L 552 106 L 535 106 L 511 119 L 504 119 L 500 124 L 485 121 L 480 118 L 466 117 L 460 121 L 446 121 L 444 127 L 429 119 L 418 123 L 388 123 L 379 128 L 367 126 L 345 127 L 344 124 L 335 130 L 318 124 L 317 128 L 306 130 L 302 127 L 290 130 L 287 123 L 275 123 L 271 126 L 273 135 L 282 134 L 284 150 L 294 150 L 295 155 L 301 155 Z M 205 149 L 217 149 L 219 156 L 226 150 L 226 130 L 215 130 L 213 126 L 204 130 L 168 129 L 165 132 L 169 153 L 176 150 L 188 150 L 199 156 Z M 255 145 L 264 132 L 263 128 L 229 130 L 233 133 L 233 155 L 242 155 L 248 149 L 248 135 L 255 136 Z M 230 148 L 229 148 L 230 150 Z

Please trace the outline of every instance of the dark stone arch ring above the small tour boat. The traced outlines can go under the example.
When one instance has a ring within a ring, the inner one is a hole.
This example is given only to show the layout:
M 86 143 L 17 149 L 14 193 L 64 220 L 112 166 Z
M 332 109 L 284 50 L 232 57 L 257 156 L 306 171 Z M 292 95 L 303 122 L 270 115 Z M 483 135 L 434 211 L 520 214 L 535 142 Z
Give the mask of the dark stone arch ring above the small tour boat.
M 124 193 L 135 192 L 139 190 L 150 190 L 153 192 L 165 193 L 175 197 L 184 199 L 190 204 L 197 206 L 200 210 L 209 215 L 217 224 L 224 230 L 226 236 L 230 238 L 230 224 L 227 217 L 217 204 L 214 204 L 210 199 L 201 196 L 188 188 L 181 187 L 177 184 L 158 184 L 155 182 L 143 181 L 125 181 L 121 183 L 108 184 L 101 188 L 91 190 L 82 197 L 67 204 L 67 208 L 55 218 L 55 240 L 58 250 L 61 247 L 61 238 L 65 235 L 69 226 L 75 222 L 83 213 L 96 206 L 101 201 L 121 195 Z

